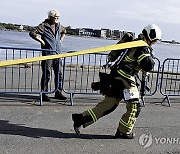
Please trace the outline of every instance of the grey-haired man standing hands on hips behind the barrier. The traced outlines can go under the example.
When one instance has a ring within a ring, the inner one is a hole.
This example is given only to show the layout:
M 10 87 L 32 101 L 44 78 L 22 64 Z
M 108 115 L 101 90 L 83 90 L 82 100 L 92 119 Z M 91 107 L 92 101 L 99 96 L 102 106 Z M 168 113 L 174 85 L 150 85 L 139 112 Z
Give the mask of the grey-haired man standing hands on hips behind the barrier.
M 50 49 L 55 50 L 60 53 L 61 42 L 65 37 L 66 30 L 58 21 L 59 12 L 57 10 L 51 10 L 48 13 L 48 18 L 45 19 L 42 23 L 40 23 L 34 30 L 32 30 L 29 35 L 36 41 L 41 43 L 42 49 Z M 40 37 L 40 36 L 41 37 Z M 43 56 L 56 54 L 54 52 L 42 52 Z M 54 75 L 55 75 L 55 98 L 60 100 L 67 99 L 62 95 L 61 81 L 62 81 L 62 73 L 61 73 L 61 60 L 44 60 L 41 63 L 42 66 L 42 78 L 41 78 L 41 90 L 42 92 L 48 91 L 48 82 L 50 80 L 50 69 L 53 67 Z M 50 101 L 49 97 L 43 93 L 42 94 L 43 101 Z

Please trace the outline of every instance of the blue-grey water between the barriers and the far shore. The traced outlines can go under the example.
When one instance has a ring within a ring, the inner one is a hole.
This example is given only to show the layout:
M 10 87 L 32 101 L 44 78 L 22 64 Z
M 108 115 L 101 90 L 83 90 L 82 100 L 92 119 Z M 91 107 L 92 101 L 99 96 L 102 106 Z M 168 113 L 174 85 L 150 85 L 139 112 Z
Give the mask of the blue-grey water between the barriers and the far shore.
M 62 52 L 79 51 L 116 44 L 117 40 L 66 36 Z M 0 46 L 40 48 L 40 44 L 29 37 L 28 32 L 0 31 Z M 162 62 L 166 58 L 180 58 L 180 45 L 155 44 L 154 55 Z

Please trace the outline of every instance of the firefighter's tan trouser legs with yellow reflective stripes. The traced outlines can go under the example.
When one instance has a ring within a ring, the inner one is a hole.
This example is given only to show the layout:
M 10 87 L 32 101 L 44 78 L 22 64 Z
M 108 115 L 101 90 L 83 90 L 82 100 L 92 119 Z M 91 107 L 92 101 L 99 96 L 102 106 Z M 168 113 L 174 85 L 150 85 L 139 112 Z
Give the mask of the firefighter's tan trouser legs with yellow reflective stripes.
M 89 120 L 83 124 L 83 127 L 96 122 L 99 118 L 113 112 L 121 98 L 114 98 L 106 96 L 101 102 L 99 102 L 94 108 L 84 111 L 82 113 L 83 117 L 91 117 Z M 118 130 L 124 134 L 130 134 L 133 130 L 136 118 L 140 113 L 140 103 L 139 101 L 126 101 L 126 113 L 124 113 L 119 121 Z

